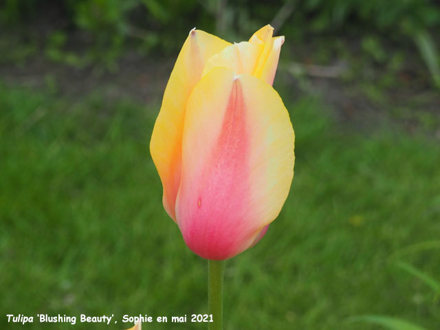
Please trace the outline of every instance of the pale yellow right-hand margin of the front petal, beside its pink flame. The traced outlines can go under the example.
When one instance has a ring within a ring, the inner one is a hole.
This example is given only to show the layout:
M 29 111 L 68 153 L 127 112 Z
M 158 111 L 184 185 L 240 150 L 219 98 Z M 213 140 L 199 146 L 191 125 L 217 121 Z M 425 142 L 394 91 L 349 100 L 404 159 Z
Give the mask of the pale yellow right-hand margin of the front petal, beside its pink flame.
M 262 80 L 241 76 L 246 107 L 252 109 L 249 134 L 250 192 L 264 225 L 278 217 L 294 177 L 295 135 L 278 93 Z M 264 207 L 259 207 L 259 205 Z

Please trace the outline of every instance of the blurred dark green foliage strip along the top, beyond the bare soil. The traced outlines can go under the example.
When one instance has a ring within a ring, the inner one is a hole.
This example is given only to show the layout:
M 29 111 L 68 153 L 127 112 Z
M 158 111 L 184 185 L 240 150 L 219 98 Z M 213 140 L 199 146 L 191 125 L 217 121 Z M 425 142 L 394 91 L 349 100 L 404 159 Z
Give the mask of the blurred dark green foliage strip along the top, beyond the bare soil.
M 49 40 L 46 54 L 54 61 L 76 66 L 98 62 L 116 69 L 116 60 L 128 45 L 140 52 L 177 52 L 195 25 L 223 39 L 240 41 L 261 25 L 272 23 L 288 38 L 298 34 L 304 38 L 309 34 L 361 34 L 362 48 L 378 63 L 385 63 L 387 56 L 375 34 L 388 34 L 384 41 L 401 44 L 413 40 L 434 84 L 440 87 L 437 41 L 430 36 L 440 29 L 440 7 L 430 0 L 6 0 L 0 5 L 0 21 L 26 25 L 39 10 L 43 14 L 52 7 L 63 13 L 69 23 L 65 26 L 83 33 L 89 48 L 78 55 L 66 51 L 65 45 L 53 47 Z M 285 10 L 288 13 L 283 16 Z M 70 37 L 71 31 L 66 32 L 61 33 Z

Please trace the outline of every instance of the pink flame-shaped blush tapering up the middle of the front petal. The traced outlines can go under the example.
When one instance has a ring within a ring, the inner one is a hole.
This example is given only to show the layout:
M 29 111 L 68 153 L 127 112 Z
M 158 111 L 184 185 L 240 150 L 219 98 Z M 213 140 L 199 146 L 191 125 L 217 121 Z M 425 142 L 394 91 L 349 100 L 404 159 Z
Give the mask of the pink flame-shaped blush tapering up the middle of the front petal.
M 234 80 L 217 143 L 210 155 L 201 155 L 203 168 L 191 189 L 181 184 L 179 226 L 190 250 L 205 259 L 228 259 L 242 252 L 255 233 L 248 219 L 250 143 L 245 115 L 240 82 Z

